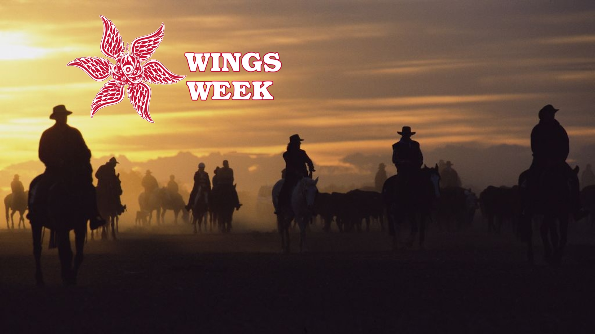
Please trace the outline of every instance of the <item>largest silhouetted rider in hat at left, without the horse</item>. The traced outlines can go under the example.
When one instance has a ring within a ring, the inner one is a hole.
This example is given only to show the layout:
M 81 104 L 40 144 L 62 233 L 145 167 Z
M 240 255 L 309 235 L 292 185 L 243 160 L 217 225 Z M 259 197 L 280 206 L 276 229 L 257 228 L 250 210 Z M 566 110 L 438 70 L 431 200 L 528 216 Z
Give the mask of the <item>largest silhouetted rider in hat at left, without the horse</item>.
M 68 191 L 82 190 L 84 211 L 90 220 L 91 229 L 105 224 L 97 209 L 93 168 L 90 163 L 91 151 L 84 142 L 79 130 L 67 124 L 72 114 L 64 105 L 55 106 L 50 119 L 55 124 L 43 131 L 39 140 L 39 159 L 45 164 L 45 172 L 37 190 L 37 201 L 46 201 L 52 185 L 61 182 Z M 78 188 L 78 189 L 77 189 Z M 30 212 L 37 215 L 36 212 Z

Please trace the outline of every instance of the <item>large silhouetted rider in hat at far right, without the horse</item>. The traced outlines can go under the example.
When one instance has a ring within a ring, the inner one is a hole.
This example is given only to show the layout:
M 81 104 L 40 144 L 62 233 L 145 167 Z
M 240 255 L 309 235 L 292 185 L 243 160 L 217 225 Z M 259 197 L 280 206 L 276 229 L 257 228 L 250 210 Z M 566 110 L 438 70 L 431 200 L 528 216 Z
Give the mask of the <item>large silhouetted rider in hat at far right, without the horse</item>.
M 581 208 L 579 199 L 578 175 L 566 163 L 569 153 L 569 140 L 566 130 L 555 119 L 559 109 L 546 105 L 539 111 L 539 123 L 531 131 L 531 152 L 533 162 L 529 168 L 528 189 L 530 193 L 543 182 L 546 172 L 560 171 L 568 178 L 571 195 L 571 210 L 574 219 L 580 220 L 588 215 Z

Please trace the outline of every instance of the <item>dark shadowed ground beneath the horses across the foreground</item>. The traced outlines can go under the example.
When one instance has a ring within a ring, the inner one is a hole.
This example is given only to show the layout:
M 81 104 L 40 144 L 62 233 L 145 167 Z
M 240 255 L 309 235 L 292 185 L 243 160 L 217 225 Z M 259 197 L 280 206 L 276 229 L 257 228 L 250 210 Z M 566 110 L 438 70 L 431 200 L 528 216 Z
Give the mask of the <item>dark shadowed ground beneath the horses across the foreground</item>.
M 483 230 L 397 253 L 379 231 L 309 237 L 283 255 L 272 232 L 130 231 L 89 241 L 79 286 L 63 287 L 46 235 L 37 288 L 30 230 L 2 229 L 0 333 L 595 332 L 589 232 L 560 267 L 530 267 L 511 234 Z

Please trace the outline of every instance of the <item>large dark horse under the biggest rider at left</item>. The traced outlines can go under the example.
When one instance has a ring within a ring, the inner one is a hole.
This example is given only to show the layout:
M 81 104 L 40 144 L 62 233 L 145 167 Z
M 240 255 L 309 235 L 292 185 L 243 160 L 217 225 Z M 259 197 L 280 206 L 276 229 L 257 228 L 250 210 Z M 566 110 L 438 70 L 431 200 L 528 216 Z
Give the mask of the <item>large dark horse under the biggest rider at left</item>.
M 84 212 L 84 190 L 74 184 L 56 182 L 49 189 L 42 189 L 43 178 L 38 175 L 29 186 L 29 220 L 33 232 L 33 255 L 35 256 L 35 279 L 43 285 L 41 271 L 42 228 L 51 230 L 50 247 L 58 245 L 58 256 L 62 272 L 62 282 L 76 284 L 77 273 L 83 262 L 83 246 L 87 232 L 87 215 Z M 41 186 L 40 186 L 41 185 Z M 46 191 L 47 193 L 40 194 Z M 74 230 L 76 256 L 70 248 L 70 230 Z

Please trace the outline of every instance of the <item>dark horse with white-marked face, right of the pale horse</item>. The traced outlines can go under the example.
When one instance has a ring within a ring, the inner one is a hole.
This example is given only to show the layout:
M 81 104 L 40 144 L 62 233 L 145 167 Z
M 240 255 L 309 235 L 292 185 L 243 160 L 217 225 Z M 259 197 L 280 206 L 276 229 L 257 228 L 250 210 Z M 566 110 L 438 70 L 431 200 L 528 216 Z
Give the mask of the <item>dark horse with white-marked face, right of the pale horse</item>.
M 393 175 L 382 187 L 384 204 L 389 218 L 389 233 L 393 236 L 393 247 L 397 248 L 399 227 L 403 220 L 411 223 L 411 234 L 407 242 L 413 245 L 419 231 L 419 247 L 425 240 L 425 222 L 430 218 L 434 201 L 440 197 L 440 174 L 438 165 L 419 169 L 408 180 Z

